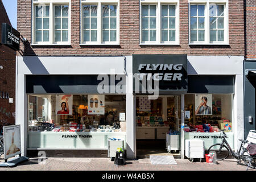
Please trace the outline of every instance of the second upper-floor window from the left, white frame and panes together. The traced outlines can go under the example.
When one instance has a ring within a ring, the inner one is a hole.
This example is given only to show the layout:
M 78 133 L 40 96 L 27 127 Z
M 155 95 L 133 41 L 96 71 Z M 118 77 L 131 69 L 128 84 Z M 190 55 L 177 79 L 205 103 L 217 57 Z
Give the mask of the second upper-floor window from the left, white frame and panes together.
M 119 44 L 118 1 L 81 1 L 81 44 Z

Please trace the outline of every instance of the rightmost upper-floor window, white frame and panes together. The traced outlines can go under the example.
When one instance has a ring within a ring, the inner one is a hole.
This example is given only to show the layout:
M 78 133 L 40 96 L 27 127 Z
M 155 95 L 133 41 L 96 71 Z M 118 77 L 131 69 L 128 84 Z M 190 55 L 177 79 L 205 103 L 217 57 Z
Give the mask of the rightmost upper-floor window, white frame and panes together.
M 189 44 L 228 44 L 226 3 L 189 4 Z

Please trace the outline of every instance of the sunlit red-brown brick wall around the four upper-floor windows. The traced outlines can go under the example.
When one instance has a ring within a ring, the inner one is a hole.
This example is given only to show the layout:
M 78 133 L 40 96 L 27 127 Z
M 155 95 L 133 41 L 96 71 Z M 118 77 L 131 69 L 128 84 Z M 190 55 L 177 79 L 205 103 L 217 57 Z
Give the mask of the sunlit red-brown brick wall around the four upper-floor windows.
M 252 0 L 254 1 L 254 0 Z M 71 0 L 71 46 L 30 46 L 31 0 L 18 0 L 18 31 L 25 55 L 245 55 L 243 1 L 229 1 L 229 46 L 188 46 L 188 0 L 180 0 L 180 46 L 139 46 L 139 1 L 120 0 L 120 46 L 79 46 L 80 0 Z

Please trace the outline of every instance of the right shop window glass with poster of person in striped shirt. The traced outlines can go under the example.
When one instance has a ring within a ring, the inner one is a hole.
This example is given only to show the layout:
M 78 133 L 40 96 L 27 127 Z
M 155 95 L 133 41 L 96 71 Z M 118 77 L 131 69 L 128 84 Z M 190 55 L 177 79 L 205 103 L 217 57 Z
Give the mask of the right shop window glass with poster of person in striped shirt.
M 232 132 L 232 94 L 186 94 L 185 132 Z

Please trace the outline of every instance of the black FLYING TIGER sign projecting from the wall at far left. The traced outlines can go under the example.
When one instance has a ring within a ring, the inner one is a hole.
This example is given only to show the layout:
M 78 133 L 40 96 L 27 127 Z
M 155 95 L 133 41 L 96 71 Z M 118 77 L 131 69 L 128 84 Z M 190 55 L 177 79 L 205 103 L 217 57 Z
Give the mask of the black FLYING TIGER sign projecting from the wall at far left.
M 2 44 L 6 44 L 15 51 L 19 51 L 20 34 L 7 23 L 2 23 Z

